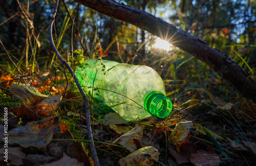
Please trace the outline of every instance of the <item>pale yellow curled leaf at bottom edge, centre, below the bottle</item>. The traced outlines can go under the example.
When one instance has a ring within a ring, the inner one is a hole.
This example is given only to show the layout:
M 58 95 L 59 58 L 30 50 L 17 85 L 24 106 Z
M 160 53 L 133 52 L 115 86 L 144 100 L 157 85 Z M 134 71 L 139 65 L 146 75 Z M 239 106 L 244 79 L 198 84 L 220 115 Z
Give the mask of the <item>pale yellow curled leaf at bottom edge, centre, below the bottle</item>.
M 144 147 L 119 160 L 121 166 L 126 165 L 153 165 L 159 159 L 159 152 L 154 147 Z M 149 158 L 148 158 L 149 157 Z

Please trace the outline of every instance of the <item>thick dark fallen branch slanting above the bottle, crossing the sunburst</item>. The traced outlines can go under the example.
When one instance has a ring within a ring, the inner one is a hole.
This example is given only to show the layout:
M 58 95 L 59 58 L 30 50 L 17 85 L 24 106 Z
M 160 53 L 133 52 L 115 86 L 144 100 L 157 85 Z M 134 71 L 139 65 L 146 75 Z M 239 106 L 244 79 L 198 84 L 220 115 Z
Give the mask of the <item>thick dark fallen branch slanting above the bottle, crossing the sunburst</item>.
M 244 97 L 256 99 L 256 82 L 225 53 L 214 49 L 199 38 L 190 35 L 160 18 L 112 0 L 75 0 L 97 12 L 140 27 L 174 46 L 189 52 L 226 78 Z

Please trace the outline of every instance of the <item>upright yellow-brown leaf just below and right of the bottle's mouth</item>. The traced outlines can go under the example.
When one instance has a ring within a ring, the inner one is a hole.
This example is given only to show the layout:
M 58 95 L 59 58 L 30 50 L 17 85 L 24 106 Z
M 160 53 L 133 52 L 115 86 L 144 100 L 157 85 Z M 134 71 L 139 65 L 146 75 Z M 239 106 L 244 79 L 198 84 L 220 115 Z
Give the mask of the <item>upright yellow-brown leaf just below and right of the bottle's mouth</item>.
M 168 141 L 176 146 L 178 152 L 180 152 L 180 147 L 189 141 L 189 130 L 192 126 L 193 123 L 191 121 L 181 120 L 170 134 Z

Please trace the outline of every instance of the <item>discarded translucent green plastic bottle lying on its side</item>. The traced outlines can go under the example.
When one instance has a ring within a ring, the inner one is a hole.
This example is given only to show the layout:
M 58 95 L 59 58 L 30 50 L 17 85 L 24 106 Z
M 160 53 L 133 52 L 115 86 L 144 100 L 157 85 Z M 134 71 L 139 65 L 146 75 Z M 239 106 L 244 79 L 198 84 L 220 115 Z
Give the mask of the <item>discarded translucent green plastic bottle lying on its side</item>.
M 134 121 L 151 115 L 164 118 L 172 111 L 163 80 L 151 67 L 89 59 L 75 75 L 84 90 L 112 107 L 123 119 Z

